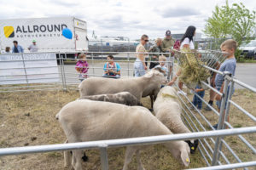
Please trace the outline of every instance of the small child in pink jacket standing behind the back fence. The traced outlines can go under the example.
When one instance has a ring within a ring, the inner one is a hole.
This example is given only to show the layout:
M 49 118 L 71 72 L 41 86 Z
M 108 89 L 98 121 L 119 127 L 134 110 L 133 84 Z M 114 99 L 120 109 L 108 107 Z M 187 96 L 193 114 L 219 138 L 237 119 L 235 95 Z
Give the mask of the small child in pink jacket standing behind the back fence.
M 76 71 L 78 71 L 79 74 L 79 80 L 82 82 L 84 78 L 87 78 L 87 71 L 88 71 L 88 62 L 86 61 L 86 55 L 85 54 L 79 54 L 79 60 L 75 66 Z

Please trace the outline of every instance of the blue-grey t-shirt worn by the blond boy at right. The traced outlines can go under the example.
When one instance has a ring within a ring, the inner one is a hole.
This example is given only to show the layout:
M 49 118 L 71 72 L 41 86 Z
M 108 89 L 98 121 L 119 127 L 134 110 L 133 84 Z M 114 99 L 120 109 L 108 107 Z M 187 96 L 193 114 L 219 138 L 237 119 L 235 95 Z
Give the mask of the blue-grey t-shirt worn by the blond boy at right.
M 232 76 L 235 76 L 236 71 L 236 58 L 226 59 L 223 64 L 220 65 L 218 71 L 229 71 Z M 224 76 L 217 74 L 215 77 L 215 85 L 220 88 L 224 82 Z

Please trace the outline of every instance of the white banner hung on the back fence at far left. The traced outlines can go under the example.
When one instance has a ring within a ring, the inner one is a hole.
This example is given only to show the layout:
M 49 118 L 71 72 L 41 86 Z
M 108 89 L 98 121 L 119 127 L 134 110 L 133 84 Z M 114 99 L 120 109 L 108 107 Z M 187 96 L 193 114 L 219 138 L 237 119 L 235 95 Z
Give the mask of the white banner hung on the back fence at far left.
M 0 85 L 59 81 L 55 54 L 0 54 Z

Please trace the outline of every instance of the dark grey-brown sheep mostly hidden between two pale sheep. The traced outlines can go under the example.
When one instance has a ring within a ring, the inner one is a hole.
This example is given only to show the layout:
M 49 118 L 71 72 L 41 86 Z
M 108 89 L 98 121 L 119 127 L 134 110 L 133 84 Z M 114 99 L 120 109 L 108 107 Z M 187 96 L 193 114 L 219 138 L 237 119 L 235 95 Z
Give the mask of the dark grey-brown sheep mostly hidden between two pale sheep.
M 91 99 L 96 101 L 108 101 L 111 103 L 123 104 L 123 105 L 142 105 L 138 99 L 129 92 L 120 92 L 117 94 L 98 94 L 83 96 L 79 99 Z

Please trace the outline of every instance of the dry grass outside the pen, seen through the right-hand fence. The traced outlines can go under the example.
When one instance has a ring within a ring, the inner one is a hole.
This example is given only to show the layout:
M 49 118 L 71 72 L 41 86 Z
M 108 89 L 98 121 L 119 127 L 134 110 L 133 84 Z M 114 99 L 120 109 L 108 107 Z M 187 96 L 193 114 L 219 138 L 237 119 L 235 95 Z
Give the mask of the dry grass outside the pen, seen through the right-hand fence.
M 208 94 L 208 93 L 206 93 Z M 189 98 L 192 100 L 192 95 L 189 95 Z M 208 95 L 206 95 L 205 99 L 208 99 Z M 236 102 L 236 104 L 241 105 L 242 108 L 246 109 L 249 113 L 253 114 L 253 116 L 256 116 L 256 105 L 253 104 L 253 102 L 256 101 L 256 94 L 253 94 L 250 91 L 247 90 L 236 90 L 235 94 L 232 96 L 232 100 Z M 187 102 L 188 103 L 188 102 Z M 203 105 L 204 107 L 204 105 Z M 216 105 L 214 105 L 216 108 Z M 211 128 L 208 126 L 207 122 L 205 122 L 201 116 L 197 112 L 194 111 L 195 116 L 200 120 L 202 125 L 207 128 L 207 130 L 211 130 Z M 218 122 L 218 116 L 213 113 L 213 111 L 203 111 L 203 116 L 207 118 L 211 124 L 215 124 Z M 195 119 L 193 119 L 195 122 Z M 230 124 L 233 127 L 253 127 L 255 126 L 255 122 L 253 122 L 249 117 L 245 116 L 241 111 L 239 111 L 235 106 L 230 105 Z M 200 131 L 202 128 L 196 123 L 196 126 L 199 127 Z M 256 146 L 256 135 L 255 133 L 251 134 L 244 134 L 242 135 L 247 141 L 249 141 L 250 144 L 253 145 L 255 148 Z M 255 161 L 256 156 L 253 155 L 253 151 L 247 148 L 246 144 L 241 142 L 241 139 L 239 139 L 237 136 L 230 136 L 224 138 L 225 142 L 227 144 L 230 144 L 230 147 L 232 150 L 236 152 L 236 155 L 241 158 L 241 161 Z M 213 144 L 210 141 L 210 139 L 207 139 L 207 142 L 212 146 Z M 203 142 L 205 144 L 205 142 Z M 209 151 L 209 150 L 208 150 Z M 227 158 L 230 160 L 231 163 L 236 163 L 236 159 L 234 156 L 230 154 L 230 151 L 227 150 L 227 148 L 223 147 L 224 155 L 227 156 Z M 212 154 L 211 154 L 212 156 Z M 225 162 L 223 158 L 221 158 L 221 161 Z M 253 169 L 253 168 L 252 168 Z

